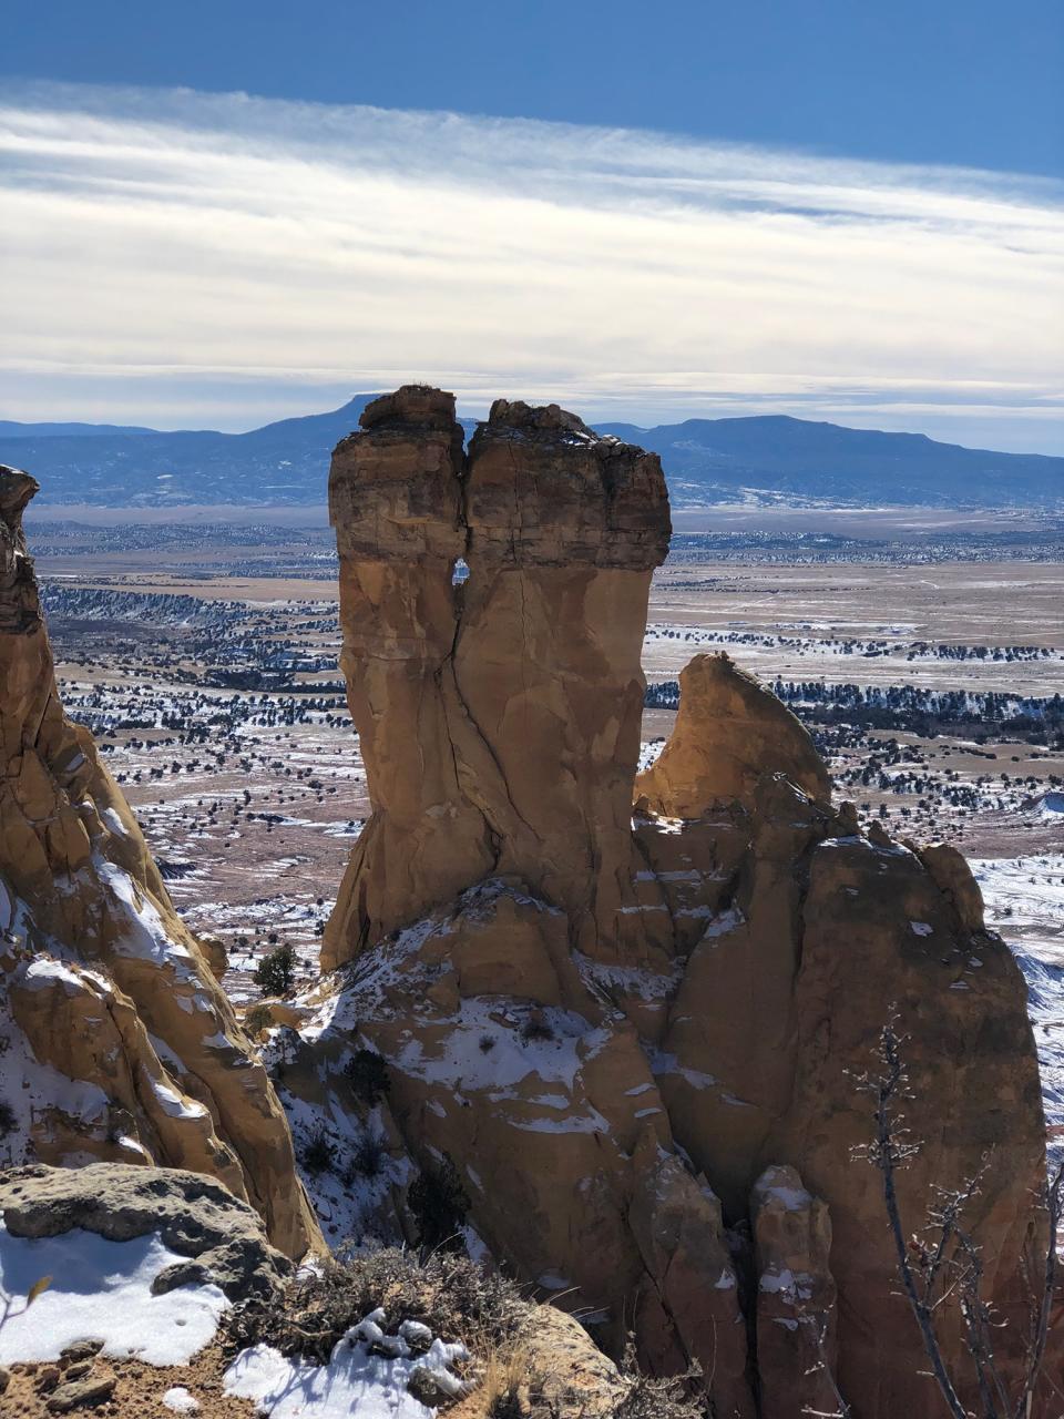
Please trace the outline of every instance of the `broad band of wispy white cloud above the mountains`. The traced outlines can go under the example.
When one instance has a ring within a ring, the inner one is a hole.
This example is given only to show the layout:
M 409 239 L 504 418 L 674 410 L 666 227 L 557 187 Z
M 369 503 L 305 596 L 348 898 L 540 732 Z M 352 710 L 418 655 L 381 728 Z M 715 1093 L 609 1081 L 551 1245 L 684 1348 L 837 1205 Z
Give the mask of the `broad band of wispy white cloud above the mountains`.
M 1064 444 L 1064 187 L 555 123 L 9 88 L 13 417 L 247 427 L 428 379 Z

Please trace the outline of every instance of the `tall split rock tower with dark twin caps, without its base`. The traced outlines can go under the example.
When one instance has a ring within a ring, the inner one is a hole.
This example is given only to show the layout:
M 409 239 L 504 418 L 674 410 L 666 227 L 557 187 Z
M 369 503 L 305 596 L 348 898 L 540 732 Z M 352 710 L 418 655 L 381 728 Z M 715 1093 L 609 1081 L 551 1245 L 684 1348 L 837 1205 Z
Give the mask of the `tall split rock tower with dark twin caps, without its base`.
M 563 907 L 582 945 L 614 941 L 670 535 L 657 455 L 497 400 L 467 460 L 453 396 L 407 386 L 338 446 L 329 490 L 375 813 L 325 969 L 491 874 Z

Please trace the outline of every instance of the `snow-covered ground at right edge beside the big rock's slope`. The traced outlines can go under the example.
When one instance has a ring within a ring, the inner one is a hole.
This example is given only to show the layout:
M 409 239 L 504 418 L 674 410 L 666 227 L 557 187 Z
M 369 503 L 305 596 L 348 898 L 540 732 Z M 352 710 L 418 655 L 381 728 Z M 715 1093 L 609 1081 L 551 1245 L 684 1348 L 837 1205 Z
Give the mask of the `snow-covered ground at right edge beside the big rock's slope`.
M 1064 853 L 972 861 L 986 922 L 1000 931 L 1027 981 L 1046 1118 L 1064 1154 Z

